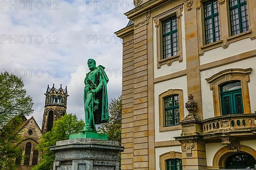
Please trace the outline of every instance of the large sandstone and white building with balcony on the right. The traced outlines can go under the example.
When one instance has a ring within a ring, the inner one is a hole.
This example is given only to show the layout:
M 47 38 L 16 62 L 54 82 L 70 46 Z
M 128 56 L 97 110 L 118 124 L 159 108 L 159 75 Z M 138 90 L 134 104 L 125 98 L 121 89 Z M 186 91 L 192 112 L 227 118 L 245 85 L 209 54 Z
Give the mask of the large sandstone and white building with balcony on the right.
M 256 0 L 134 0 L 122 170 L 256 166 Z

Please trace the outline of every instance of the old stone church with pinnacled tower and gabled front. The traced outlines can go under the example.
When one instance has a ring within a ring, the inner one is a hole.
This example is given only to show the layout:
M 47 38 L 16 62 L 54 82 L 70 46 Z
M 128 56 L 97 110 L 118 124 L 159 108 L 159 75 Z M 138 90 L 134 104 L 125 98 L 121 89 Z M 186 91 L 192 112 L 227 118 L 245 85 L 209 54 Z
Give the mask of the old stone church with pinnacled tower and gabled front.
M 18 146 L 23 153 L 23 159 L 15 158 L 17 170 L 32 170 L 35 165 L 40 163 L 40 155 L 42 153 L 35 150 L 35 147 L 40 142 L 40 136 L 52 130 L 53 122 L 60 119 L 66 113 L 67 86 L 65 89 L 62 89 L 62 87 L 56 89 L 54 84 L 52 88 L 49 88 L 48 85 L 45 95 L 42 130 L 33 117 L 30 119 L 27 119 L 25 116 L 22 117 L 24 122 L 21 124 L 18 133 L 23 139 Z

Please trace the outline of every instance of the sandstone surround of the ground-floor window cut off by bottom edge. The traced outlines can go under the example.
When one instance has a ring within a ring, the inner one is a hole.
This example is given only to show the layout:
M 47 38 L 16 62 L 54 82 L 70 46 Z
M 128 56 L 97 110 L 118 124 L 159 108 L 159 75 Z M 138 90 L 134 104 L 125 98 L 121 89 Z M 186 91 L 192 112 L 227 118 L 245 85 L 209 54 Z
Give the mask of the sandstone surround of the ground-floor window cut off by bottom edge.
M 160 170 L 166 170 L 167 159 L 182 159 L 181 152 L 170 151 L 159 156 Z

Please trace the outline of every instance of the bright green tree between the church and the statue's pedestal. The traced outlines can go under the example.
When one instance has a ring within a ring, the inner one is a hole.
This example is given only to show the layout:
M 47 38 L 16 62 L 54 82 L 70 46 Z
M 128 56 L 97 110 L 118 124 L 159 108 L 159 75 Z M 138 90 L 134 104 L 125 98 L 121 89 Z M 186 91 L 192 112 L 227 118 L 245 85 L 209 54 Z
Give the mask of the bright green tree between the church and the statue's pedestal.
M 69 139 L 70 134 L 79 133 L 84 127 L 84 122 L 78 120 L 76 115 L 65 114 L 61 119 L 53 123 L 52 131 L 43 134 L 36 149 L 42 152 L 42 162 L 33 170 L 52 170 L 55 154 L 50 151 L 57 141 Z

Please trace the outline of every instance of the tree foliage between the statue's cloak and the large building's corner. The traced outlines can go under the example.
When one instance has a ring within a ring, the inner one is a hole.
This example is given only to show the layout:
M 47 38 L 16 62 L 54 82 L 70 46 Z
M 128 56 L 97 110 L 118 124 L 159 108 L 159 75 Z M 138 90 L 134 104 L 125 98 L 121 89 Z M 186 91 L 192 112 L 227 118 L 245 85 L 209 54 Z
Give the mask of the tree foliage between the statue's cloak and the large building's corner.
M 99 125 L 98 132 L 108 135 L 108 140 L 121 144 L 122 96 L 112 99 L 109 104 L 109 122 Z

